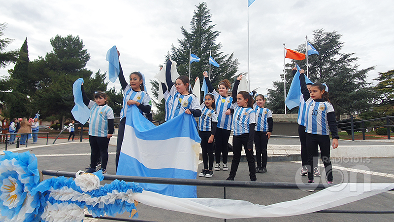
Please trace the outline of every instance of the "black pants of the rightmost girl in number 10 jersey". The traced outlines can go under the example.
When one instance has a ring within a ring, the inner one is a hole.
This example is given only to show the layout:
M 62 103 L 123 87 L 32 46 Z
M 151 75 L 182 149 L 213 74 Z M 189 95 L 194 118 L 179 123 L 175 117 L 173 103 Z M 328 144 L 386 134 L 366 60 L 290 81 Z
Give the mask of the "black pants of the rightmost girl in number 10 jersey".
M 330 141 L 329 135 L 317 135 L 306 133 L 306 148 L 308 149 L 308 179 L 313 181 L 313 169 L 311 166 L 317 166 L 318 157 L 314 155 L 320 147 L 320 154 L 326 170 L 327 181 L 332 182 L 332 166 L 329 159 Z

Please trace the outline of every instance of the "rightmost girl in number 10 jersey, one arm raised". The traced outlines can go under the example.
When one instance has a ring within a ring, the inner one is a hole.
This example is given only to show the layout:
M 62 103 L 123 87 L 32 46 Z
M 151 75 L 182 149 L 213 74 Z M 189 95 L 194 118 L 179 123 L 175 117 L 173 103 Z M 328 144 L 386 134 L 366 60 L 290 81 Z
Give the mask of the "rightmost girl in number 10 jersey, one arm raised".
M 305 132 L 306 148 L 308 150 L 308 183 L 314 183 L 311 166 L 314 165 L 314 153 L 320 147 L 321 158 L 326 170 L 327 182 L 332 184 L 332 166 L 329 157 L 329 131 L 332 135 L 332 148 L 338 147 L 338 131 L 335 112 L 328 100 L 326 87 L 321 83 L 313 84 L 308 92 L 305 84 L 305 74 L 300 74 L 301 92 L 306 101 Z M 329 129 L 328 129 L 329 127 Z

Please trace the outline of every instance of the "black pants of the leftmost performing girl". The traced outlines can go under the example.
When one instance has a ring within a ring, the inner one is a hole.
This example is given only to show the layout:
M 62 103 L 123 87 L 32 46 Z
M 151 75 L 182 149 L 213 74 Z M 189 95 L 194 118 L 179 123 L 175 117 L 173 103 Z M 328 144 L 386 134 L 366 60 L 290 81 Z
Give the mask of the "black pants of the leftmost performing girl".
M 90 166 L 96 166 L 97 160 L 101 156 L 101 168 L 106 169 L 108 163 L 108 144 L 107 137 L 94 137 L 89 135 L 89 144 L 92 150 L 90 155 Z

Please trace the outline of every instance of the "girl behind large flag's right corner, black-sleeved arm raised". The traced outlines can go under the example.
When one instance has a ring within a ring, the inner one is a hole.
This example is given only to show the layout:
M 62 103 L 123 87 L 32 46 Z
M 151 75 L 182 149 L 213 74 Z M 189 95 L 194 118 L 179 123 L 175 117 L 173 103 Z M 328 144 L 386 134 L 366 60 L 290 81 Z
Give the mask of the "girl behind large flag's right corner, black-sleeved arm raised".
M 179 76 L 175 85 L 171 80 L 171 64 L 167 61 L 165 67 L 165 81 L 168 90 L 164 94 L 166 103 L 168 101 L 168 111 L 166 111 L 167 120 L 170 120 L 179 114 L 186 112 L 193 114 L 195 118 L 201 115 L 201 107 L 198 98 L 191 92 L 190 79 L 186 75 Z

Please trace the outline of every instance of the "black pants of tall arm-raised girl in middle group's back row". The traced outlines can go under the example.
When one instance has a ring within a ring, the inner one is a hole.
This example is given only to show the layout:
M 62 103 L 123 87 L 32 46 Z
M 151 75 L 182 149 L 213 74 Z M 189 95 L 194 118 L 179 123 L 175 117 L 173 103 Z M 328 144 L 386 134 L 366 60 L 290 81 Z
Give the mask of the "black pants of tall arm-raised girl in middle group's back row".
M 231 130 L 216 128 L 215 133 L 215 159 L 220 163 L 220 153 L 223 153 L 223 164 L 227 164 L 227 155 L 229 154 L 229 138 Z

